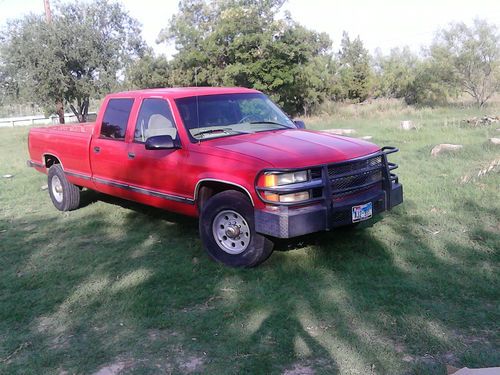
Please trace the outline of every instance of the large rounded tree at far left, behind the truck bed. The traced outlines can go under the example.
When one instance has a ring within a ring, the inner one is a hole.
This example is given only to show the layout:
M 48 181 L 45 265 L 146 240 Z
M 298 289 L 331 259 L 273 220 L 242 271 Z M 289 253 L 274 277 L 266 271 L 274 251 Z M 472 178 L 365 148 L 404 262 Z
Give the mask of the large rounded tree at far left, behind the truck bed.
M 90 98 L 116 85 L 145 46 L 138 22 L 107 0 L 60 4 L 52 22 L 40 15 L 10 21 L 0 38 L 0 56 L 20 94 L 64 122 L 69 105 L 86 121 Z

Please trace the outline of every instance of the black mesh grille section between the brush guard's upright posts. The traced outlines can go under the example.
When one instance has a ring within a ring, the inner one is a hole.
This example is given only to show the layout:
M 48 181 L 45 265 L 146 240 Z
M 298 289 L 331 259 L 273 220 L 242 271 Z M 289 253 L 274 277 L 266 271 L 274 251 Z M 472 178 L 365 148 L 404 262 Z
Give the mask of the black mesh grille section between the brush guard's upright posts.
M 367 191 L 382 189 L 382 167 L 381 156 L 328 166 L 333 199 L 345 199 Z M 371 170 L 366 171 L 366 169 Z M 371 185 L 363 186 L 366 184 Z M 339 190 L 344 191 L 338 192 Z

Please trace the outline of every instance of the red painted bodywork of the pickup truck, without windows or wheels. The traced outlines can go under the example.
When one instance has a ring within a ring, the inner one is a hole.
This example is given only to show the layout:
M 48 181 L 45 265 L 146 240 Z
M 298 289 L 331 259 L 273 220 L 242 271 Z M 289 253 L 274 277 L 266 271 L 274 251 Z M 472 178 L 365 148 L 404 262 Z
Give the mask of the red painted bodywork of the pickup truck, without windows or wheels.
M 325 132 L 289 129 L 192 143 L 175 105 L 176 98 L 259 93 L 244 88 L 172 88 L 130 91 L 106 97 L 96 123 L 32 128 L 31 162 L 46 172 L 45 156 L 56 157 L 68 179 L 103 193 L 170 211 L 197 216 L 197 187 L 218 180 L 246 190 L 256 208 L 265 204 L 255 191 L 256 176 L 267 168 L 303 168 L 349 160 L 378 151 L 372 143 Z M 124 141 L 99 138 L 103 114 L 110 99 L 132 98 Z M 146 150 L 136 143 L 134 128 L 141 102 L 162 98 L 170 106 L 181 148 Z M 99 148 L 99 152 L 95 149 Z M 134 154 L 131 159 L 129 154 Z M 125 189 L 126 187 L 127 189 Z

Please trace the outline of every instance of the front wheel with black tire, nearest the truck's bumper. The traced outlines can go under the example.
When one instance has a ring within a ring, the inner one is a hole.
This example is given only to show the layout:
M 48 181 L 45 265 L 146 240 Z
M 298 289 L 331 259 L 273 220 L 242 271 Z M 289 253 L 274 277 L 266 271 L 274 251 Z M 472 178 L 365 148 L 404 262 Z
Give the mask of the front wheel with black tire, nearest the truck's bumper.
M 207 253 L 230 267 L 257 266 L 273 251 L 273 243 L 255 232 L 253 207 L 238 191 L 223 191 L 207 201 L 200 236 Z

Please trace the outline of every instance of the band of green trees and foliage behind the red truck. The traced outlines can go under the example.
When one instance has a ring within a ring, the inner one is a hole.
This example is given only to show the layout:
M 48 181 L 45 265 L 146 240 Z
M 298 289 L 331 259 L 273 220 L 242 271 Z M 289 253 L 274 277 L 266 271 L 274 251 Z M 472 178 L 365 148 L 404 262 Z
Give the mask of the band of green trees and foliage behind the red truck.
M 485 21 L 448 25 L 420 53 L 401 47 L 372 56 L 346 32 L 334 51 L 327 34 L 280 12 L 284 2 L 181 0 L 157 40 L 175 45 L 170 59 L 155 55 L 141 25 L 108 0 L 58 4 L 52 23 L 40 15 L 11 20 L 0 37 L 0 105 L 69 106 L 84 121 L 89 100 L 109 91 L 245 86 L 295 116 L 377 97 L 436 106 L 466 93 L 483 106 L 500 87 L 500 36 Z

